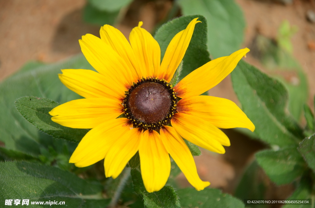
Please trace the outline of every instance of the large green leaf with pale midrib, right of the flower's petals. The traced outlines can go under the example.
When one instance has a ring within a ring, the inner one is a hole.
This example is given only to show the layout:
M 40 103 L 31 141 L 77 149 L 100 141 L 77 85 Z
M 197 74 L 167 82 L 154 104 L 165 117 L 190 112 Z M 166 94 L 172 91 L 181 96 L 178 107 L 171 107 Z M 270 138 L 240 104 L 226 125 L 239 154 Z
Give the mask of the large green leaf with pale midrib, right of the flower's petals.
M 281 147 L 297 145 L 304 135 L 287 111 L 288 92 L 284 86 L 242 60 L 231 76 L 238 100 L 259 138 Z

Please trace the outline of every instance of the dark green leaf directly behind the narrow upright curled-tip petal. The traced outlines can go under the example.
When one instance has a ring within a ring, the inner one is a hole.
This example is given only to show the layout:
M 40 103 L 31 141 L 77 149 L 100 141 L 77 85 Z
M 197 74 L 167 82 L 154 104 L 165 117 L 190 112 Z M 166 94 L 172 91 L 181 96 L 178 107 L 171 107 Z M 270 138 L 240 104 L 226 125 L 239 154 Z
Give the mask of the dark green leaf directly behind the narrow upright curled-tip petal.
M 162 25 L 156 32 L 154 39 L 157 40 L 161 48 L 161 61 L 164 57 L 166 48 L 172 38 L 181 30 L 186 29 L 192 19 L 197 18 L 202 23 L 195 26 L 192 39 L 183 58 L 183 68 L 180 79 L 210 61 L 207 51 L 207 20 L 201 15 L 189 15 L 173 19 Z

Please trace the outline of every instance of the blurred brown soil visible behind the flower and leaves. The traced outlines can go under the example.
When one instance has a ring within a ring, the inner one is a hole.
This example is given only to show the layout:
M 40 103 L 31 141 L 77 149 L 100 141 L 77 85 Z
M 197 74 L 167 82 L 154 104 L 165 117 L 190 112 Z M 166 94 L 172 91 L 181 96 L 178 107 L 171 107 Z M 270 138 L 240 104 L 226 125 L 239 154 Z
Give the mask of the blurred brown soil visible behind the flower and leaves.
M 294 0 L 292 4 L 280 3 L 280 0 L 236 2 L 243 9 L 247 23 L 242 47 L 250 47 L 257 34 L 275 38 L 285 19 L 290 25 L 298 26 L 298 32 L 292 37 L 293 56 L 307 75 L 308 104 L 314 110 L 315 23 L 307 20 L 306 14 L 310 9 L 315 12 L 315 1 Z M 0 0 L 0 80 L 16 72 L 27 61 L 52 63 L 80 53 L 78 39 L 86 33 L 99 36 L 100 29 L 100 26 L 83 22 L 85 4 L 85 0 Z M 138 21 L 143 21 L 142 27 L 152 32 L 155 25 L 166 18 L 171 7 L 171 0 L 135 0 L 116 27 L 128 38 Z M 264 70 L 250 53 L 246 61 Z M 209 90 L 209 95 L 238 103 L 230 76 Z M 203 155 L 195 157 L 195 161 L 200 177 L 210 181 L 210 187 L 233 193 L 254 153 L 265 146 L 233 130 L 225 132 L 231 140 L 226 154 L 202 150 Z M 177 179 L 182 187 L 190 186 L 183 174 Z M 286 198 L 292 191 L 290 186 L 275 188 L 268 179 L 266 183 L 269 183 L 269 198 Z

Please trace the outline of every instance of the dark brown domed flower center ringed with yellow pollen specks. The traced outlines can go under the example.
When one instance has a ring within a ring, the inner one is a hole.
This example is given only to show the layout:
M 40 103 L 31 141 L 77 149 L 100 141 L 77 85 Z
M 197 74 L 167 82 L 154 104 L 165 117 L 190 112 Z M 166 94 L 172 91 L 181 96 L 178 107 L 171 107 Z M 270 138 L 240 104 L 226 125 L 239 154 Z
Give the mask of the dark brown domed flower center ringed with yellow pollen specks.
M 141 79 L 132 85 L 123 101 L 125 114 L 133 126 L 151 130 L 169 123 L 176 103 L 172 85 L 157 78 Z

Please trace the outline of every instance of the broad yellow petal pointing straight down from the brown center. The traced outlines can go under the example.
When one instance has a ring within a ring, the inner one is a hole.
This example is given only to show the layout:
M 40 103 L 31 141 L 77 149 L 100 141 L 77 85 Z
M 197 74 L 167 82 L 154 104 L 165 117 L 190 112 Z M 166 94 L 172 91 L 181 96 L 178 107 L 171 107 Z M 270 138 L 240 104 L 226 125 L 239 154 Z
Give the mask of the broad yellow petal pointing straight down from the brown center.
M 146 130 L 140 146 L 140 167 L 144 186 L 149 193 L 159 191 L 165 185 L 171 171 L 169 153 L 166 151 L 160 134 Z

